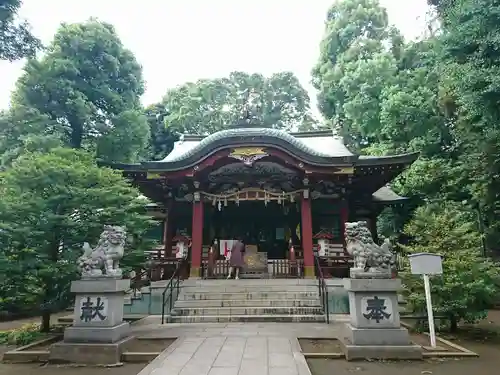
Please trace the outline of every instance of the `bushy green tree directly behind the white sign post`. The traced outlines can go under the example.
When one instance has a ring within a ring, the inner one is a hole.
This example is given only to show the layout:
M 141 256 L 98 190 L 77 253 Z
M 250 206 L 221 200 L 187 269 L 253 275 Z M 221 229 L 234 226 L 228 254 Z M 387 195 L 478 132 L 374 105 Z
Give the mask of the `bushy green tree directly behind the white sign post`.
M 443 256 L 443 275 L 432 279 L 433 308 L 446 316 L 451 330 L 461 320 L 476 322 L 487 315 L 498 298 L 500 269 L 481 256 L 481 235 L 472 223 L 473 213 L 459 203 L 430 204 L 417 209 L 405 228 L 408 253 L 428 252 Z M 421 277 L 402 273 L 404 293 L 413 311 L 426 311 Z

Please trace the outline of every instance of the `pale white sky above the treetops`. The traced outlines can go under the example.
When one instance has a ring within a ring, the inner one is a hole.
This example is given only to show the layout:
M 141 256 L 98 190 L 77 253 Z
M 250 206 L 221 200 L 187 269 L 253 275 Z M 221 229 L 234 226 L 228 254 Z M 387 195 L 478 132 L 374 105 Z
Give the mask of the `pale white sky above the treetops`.
M 380 0 L 408 38 L 421 35 L 426 0 Z M 20 16 L 44 43 L 61 22 L 97 17 L 113 24 L 143 66 L 145 105 L 168 88 L 231 71 L 292 71 L 309 91 L 324 20 L 334 0 L 24 0 Z M 0 109 L 22 74 L 23 61 L 0 62 Z

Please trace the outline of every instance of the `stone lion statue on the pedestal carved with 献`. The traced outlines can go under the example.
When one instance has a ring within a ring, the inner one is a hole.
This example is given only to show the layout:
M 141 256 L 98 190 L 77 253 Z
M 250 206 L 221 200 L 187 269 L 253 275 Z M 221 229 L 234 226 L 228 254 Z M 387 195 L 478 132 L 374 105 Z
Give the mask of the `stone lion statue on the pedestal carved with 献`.
M 123 258 L 127 232 L 125 227 L 105 225 L 97 246 L 83 244 L 83 255 L 78 258 L 82 278 L 122 277 L 120 259 Z

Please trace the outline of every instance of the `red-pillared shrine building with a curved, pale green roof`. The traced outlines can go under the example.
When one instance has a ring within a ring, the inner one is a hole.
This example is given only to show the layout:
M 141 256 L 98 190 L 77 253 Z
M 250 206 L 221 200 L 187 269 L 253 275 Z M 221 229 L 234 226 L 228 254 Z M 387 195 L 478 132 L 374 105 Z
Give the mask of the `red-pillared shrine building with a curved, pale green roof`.
M 376 240 L 377 215 L 406 199 L 387 185 L 417 157 L 356 155 L 329 130 L 288 133 L 243 123 L 184 135 L 163 160 L 112 167 L 155 202 L 152 211 L 163 221 L 158 264 L 175 258 L 176 242 L 188 239 L 186 277 L 225 277 L 224 255 L 242 237 L 248 273 L 314 277 L 318 251 L 331 269 L 324 273 L 343 277 L 350 262 L 344 223 L 366 220 Z

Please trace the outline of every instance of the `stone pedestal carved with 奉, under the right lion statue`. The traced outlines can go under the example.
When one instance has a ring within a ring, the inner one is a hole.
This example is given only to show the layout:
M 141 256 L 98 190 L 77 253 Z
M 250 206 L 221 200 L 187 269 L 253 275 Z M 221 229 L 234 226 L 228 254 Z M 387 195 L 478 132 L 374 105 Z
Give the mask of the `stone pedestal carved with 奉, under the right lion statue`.
M 345 279 L 349 296 L 350 322 L 341 341 L 347 360 L 421 359 L 422 349 L 410 341 L 401 327 L 399 279 Z

